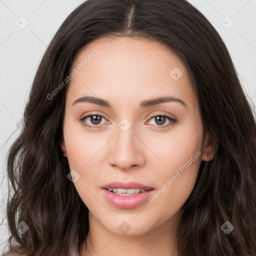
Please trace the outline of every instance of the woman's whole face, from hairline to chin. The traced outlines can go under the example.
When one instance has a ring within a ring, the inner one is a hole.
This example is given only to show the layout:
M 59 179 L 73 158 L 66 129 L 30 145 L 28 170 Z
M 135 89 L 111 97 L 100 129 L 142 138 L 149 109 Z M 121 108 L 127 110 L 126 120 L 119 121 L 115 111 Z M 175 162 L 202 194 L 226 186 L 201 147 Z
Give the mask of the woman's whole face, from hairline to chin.
M 90 219 L 130 235 L 176 224 L 213 157 L 184 65 L 158 42 L 115 37 L 86 45 L 72 68 L 61 147 Z

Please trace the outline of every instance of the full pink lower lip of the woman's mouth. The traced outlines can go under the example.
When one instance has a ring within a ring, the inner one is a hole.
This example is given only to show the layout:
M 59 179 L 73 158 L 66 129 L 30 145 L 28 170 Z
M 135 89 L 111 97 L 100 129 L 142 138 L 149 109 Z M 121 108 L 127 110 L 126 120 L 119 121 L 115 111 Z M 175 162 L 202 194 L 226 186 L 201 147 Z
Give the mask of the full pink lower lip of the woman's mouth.
M 103 194 L 105 198 L 115 207 L 134 208 L 145 202 L 153 191 L 154 189 L 150 189 L 135 195 L 118 195 L 104 188 Z

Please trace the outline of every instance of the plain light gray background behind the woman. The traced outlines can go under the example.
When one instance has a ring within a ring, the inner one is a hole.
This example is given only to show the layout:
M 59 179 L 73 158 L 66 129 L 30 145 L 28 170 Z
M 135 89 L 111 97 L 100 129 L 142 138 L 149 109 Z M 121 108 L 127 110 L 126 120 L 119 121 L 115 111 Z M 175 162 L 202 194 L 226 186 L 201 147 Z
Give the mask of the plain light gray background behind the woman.
M 39 61 L 57 28 L 80 0 L 0 0 L 0 222 L 5 217 L 6 152 L 19 133 Z M 233 59 L 244 91 L 256 104 L 256 0 L 189 0 L 212 23 Z M 20 16 L 25 18 L 20 18 Z M 230 18 L 226 17 L 229 16 Z M 21 29 L 19 26 L 29 24 Z M 222 20 L 222 21 L 221 21 Z M 234 24 L 228 28 L 232 24 Z M 19 26 L 16 23 L 19 24 Z M 228 28 L 228 29 L 226 29 Z M 11 135 L 8 139 L 7 138 Z M 7 141 L 7 142 L 6 142 Z M 6 143 L 5 143 L 6 142 Z M 0 253 L 8 237 L 0 225 Z

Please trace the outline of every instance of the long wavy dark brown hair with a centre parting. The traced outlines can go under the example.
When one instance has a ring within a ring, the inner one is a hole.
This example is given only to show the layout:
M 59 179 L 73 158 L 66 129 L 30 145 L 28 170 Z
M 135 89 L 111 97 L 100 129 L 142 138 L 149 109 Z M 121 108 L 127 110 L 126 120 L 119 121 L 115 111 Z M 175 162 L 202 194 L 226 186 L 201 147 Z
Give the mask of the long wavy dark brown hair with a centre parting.
M 67 85 L 79 51 L 100 37 L 139 36 L 166 45 L 193 82 L 204 130 L 218 141 L 201 162 L 182 206 L 181 256 L 256 255 L 256 124 L 236 70 L 217 31 L 186 0 L 87 0 L 64 20 L 36 71 L 23 129 L 7 155 L 9 249 L 26 255 L 70 255 L 86 239 L 88 209 L 66 177 L 59 146 Z M 52 95 L 52 94 L 51 94 Z M 16 225 L 29 229 L 22 235 Z M 226 234 L 221 225 L 234 229 Z

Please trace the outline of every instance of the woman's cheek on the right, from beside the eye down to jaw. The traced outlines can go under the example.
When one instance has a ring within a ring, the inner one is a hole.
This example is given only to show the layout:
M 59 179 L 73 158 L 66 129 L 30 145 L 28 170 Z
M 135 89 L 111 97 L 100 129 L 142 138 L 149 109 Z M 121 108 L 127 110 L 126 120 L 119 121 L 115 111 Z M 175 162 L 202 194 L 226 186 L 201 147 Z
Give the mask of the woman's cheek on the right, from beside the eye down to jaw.
M 173 128 L 168 136 L 158 135 L 153 140 L 159 145 L 154 147 L 154 153 L 164 165 L 160 163 L 162 167 L 157 168 L 158 187 L 149 199 L 168 216 L 174 214 L 192 192 L 201 162 L 202 138 L 202 124 L 187 119 Z M 156 168 L 159 160 L 151 164 Z M 163 207 L 166 204 L 171 207 Z

